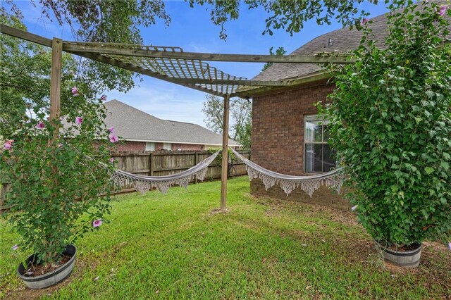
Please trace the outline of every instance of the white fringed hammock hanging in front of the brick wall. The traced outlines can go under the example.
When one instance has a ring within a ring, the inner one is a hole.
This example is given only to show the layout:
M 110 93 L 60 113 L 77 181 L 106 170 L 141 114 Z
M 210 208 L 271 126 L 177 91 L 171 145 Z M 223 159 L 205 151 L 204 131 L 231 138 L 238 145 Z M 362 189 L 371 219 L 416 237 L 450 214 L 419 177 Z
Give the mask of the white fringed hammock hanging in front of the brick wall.
M 291 194 L 293 189 L 300 187 L 311 198 L 311 195 L 313 195 L 316 189 L 319 189 L 321 185 L 326 185 L 326 187 L 334 187 L 338 194 L 340 194 L 340 189 L 343 182 L 343 175 L 342 172 L 340 172 L 341 168 L 327 173 L 311 176 L 284 175 L 267 170 L 260 165 L 257 165 L 257 163 L 249 161 L 249 159 L 245 158 L 234 149 L 230 149 L 233 151 L 233 154 L 237 156 L 237 158 L 240 158 L 240 160 L 246 164 L 249 180 L 260 178 L 261 181 L 263 181 L 266 190 L 274 185 L 280 185 L 285 194 L 288 196 Z

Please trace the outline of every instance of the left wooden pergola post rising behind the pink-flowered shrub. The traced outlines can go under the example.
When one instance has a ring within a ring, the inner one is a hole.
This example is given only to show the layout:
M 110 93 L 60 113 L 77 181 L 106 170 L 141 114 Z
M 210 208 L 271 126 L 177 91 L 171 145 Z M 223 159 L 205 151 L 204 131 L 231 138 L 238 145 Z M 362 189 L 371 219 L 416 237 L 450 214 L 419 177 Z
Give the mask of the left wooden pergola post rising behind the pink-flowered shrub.
M 51 41 L 51 77 L 50 77 L 50 122 L 54 129 L 53 139 L 59 134 L 59 125 L 54 123 L 61 113 L 61 64 L 63 57 L 63 40 L 54 39 Z

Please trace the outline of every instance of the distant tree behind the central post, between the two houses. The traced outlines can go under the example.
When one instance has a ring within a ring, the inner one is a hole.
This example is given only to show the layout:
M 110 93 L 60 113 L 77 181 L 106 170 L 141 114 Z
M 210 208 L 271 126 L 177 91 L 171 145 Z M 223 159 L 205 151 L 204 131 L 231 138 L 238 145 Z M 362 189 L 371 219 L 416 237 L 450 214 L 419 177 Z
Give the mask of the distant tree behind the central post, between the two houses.
M 252 104 L 246 99 L 230 99 L 230 130 L 229 137 L 250 149 Z M 224 102 L 218 96 L 206 95 L 202 112 L 205 114 L 206 127 L 222 135 Z

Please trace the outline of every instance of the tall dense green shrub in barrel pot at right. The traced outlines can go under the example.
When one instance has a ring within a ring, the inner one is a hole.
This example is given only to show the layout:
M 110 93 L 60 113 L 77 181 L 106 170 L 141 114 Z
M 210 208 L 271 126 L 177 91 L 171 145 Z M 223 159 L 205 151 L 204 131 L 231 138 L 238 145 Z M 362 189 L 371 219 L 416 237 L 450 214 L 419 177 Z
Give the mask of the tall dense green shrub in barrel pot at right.
M 425 239 L 451 232 L 451 9 L 404 2 L 390 6 L 383 46 L 362 21 L 357 62 L 330 67 L 322 112 L 359 222 L 385 259 L 411 268 Z

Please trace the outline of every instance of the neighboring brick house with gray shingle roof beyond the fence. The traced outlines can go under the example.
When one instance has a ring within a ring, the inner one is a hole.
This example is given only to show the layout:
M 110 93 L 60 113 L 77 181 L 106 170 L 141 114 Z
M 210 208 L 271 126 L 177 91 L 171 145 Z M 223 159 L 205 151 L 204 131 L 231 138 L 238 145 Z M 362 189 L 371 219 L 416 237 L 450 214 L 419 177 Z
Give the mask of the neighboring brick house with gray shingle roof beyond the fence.
M 202 126 L 161 120 L 118 100 L 105 102 L 105 106 L 106 125 L 114 127 L 124 140 L 117 145 L 118 151 L 202 151 L 222 146 L 222 135 Z M 240 146 L 232 139 L 228 144 Z

